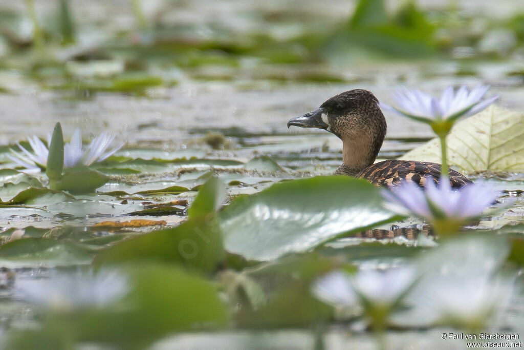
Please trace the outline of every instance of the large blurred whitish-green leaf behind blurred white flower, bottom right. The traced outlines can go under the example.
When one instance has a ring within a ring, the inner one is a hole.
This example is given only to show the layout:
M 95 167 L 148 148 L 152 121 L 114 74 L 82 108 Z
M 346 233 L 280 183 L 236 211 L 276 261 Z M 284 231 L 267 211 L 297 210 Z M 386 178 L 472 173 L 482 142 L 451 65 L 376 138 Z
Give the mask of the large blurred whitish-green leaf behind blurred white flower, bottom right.
M 420 279 L 405 298 L 405 312 L 394 317 L 394 324 L 402 327 L 424 327 L 440 321 L 443 310 L 440 300 L 459 303 L 466 298 L 484 298 L 475 295 L 457 295 L 457 285 L 478 283 L 479 278 L 495 278 L 510 252 L 507 237 L 493 232 L 463 234 L 453 239 L 439 241 L 440 245 L 419 255 L 414 264 Z M 493 280 L 495 283 L 496 279 Z M 478 293 L 484 293 L 479 290 Z M 497 300 L 497 307 L 504 309 L 510 300 L 511 290 L 504 290 L 504 298 Z M 482 300 L 482 299 L 481 299 Z M 452 302 L 450 303 L 452 304 Z M 445 311 L 445 310 L 444 310 Z M 448 310 L 449 311 L 449 310 Z M 475 310 L 470 313 L 474 314 Z M 468 317 L 470 315 L 465 315 Z M 487 316 L 487 315 L 486 315 Z

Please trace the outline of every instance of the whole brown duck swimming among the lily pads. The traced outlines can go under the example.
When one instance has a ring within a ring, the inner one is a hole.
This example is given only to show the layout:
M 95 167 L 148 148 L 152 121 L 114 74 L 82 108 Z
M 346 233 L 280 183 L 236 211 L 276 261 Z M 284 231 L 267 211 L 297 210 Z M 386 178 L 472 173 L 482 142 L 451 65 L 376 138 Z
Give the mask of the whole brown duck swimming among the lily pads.
M 312 112 L 292 118 L 291 126 L 319 128 L 342 140 L 342 165 L 335 175 L 364 178 L 375 186 L 395 187 L 412 182 L 424 187 L 427 181 L 440 180 L 441 165 L 431 162 L 386 160 L 375 163 L 386 137 L 387 123 L 378 99 L 364 89 L 342 92 L 326 100 Z M 472 181 L 452 169 L 452 188 L 459 189 Z

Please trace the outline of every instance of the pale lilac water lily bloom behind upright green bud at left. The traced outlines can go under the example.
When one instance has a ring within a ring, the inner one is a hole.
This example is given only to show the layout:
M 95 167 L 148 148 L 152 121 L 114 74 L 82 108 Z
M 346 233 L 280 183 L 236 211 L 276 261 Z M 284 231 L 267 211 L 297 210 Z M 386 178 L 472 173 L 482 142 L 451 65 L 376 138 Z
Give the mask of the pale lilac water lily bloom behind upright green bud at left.
M 115 135 L 103 132 L 94 137 L 91 143 L 82 149 L 82 137 L 80 129 L 77 128 L 71 137 L 71 141 L 64 143 L 64 168 L 71 168 L 81 164 L 89 166 L 94 162 L 105 160 L 124 146 L 124 143 L 121 143 L 108 150 L 114 139 Z M 51 135 L 48 135 L 48 146 L 36 136 L 28 137 L 28 142 L 34 153 L 29 152 L 25 147 L 17 143 L 22 153 L 11 150 L 13 155 L 7 156 L 16 164 L 24 167 L 24 171 L 38 173 L 47 165 Z

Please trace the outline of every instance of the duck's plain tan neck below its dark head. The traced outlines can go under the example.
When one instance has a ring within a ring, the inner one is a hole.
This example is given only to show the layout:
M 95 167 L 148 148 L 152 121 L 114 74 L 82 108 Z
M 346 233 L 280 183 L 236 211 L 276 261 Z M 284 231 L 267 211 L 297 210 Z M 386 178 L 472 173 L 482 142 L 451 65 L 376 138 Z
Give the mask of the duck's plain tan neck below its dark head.
M 342 166 L 337 170 L 343 170 L 346 175 L 356 175 L 363 169 L 372 165 L 377 158 L 372 138 L 359 137 L 345 138 L 342 140 Z M 377 150 L 378 151 L 378 150 Z

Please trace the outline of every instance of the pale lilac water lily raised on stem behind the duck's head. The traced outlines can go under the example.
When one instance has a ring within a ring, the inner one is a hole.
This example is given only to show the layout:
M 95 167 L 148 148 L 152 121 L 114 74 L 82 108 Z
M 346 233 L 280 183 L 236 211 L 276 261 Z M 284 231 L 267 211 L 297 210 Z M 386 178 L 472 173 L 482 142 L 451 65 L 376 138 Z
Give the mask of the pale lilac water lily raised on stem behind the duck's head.
M 380 107 L 407 116 L 408 118 L 431 123 L 434 120 L 454 121 L 462 116 L 476 114 L 495 102 L 499 95 L 483 100 L 489 86 L 479 84 L 471 91 L 461 86 L 456 91 L 448 87 L 440 99 L 431 97 L 420 90 L 402 88 L 394 93 L 400 108 L 380 103 Z

